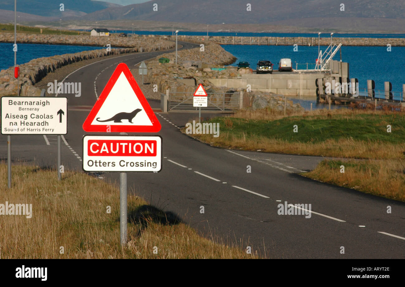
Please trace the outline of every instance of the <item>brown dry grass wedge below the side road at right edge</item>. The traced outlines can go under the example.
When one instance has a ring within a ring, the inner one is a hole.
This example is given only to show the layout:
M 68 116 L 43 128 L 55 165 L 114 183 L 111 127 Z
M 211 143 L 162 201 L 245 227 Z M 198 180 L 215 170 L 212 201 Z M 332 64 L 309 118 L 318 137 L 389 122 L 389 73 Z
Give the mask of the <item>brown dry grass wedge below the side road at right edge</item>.
M 340 172 L 341 166 L 345 168 L 344 173 Z M 405 202 L 403 160 L 324 160 L 311 172 L 301 175 Z

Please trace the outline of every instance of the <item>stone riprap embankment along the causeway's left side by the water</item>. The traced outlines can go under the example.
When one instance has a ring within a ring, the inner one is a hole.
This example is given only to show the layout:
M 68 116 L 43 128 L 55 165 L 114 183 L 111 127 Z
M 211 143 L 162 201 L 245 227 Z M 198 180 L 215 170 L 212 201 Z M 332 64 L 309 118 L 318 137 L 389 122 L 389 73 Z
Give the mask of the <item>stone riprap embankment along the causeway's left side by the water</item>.
M 1 42 L 0 34 L 0 42 Z M 32 35 L 28 35 L 32 36 Z M 44 35 L 37 35 L 44 36 Z M 48 36 L 48 35 L 46 35 Z M 52 35 L 53 37 L 54 35 Z M 70 36 L 64 37 L 69 38 Z M 90 37 L 90 36 L 87 36 Z M 92 37 L 102 38 L 102 37 Z M 108 38 L 108 37 L 104 37 Z M 124 38 L 124 37 L 120 37 Z M 26 64 L 20 65 L 20 77 L 19 96 L 40 96 L 41 90 L 33 85 L 45 77 L 48 73 L 55 71 L 56 69 L 75 62 L 83 60 L 89 60 L 98 57 L 104 57 L 108 55 L 118 55 L 123 53 L 136 53 L 136 52 L 149 52 L 162 49 L 171 49 L 175 46 L 175 43 L 167 40 L 161 40 L 159 38 L 144 38 L 140 37 L 137 45 L 132 45 L 131 48 L 117 48 L 107 51 L 106 48 L 92 51 L 83 51 L 74 54 L 55 55 L 53 57 L 42 57 L 31 60 Z M 19 42 L 21 43 L 21 42 Z M 66 43 L 65 43 L 66 44 Z M 88 45 L 88 43 L 83 44 Z M 113 46 L 113 45 L 111 45 Z M 14 78 L 14 67 L 10 67 L 6 70 L 0 71 L 0 96 L 15 95 L 17 94 L 17 79 Z

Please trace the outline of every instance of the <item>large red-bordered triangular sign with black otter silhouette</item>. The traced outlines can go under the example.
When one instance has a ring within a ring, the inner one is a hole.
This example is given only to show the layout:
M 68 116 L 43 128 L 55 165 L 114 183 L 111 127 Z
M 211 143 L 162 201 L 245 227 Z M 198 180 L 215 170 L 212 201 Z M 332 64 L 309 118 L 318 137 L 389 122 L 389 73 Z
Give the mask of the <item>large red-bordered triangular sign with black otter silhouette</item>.
M 86 132 L 159 132 L 161 125 L 132 76 L 119 63 L 83 123 Z

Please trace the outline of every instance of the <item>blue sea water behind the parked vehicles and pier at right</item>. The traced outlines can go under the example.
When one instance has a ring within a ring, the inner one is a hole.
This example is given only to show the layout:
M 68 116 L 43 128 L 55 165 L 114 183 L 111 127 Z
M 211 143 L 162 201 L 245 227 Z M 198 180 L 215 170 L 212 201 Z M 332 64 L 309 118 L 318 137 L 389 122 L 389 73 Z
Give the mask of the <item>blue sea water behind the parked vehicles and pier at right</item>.
M 237 57 L 239 61 L 247 61 L 250 67 L 256 69 L 258 60 L 270 60 L 278 69 L 278 62 L 281 58 L 290 58 L 293 68 L 306 68 L 305 63 L 310 63 L 308 68 L 315 67 L 318 55 L 318 46 L 298 46 L 294 52 L 293 46 L 258 46 L 258 45 L 222 45 L 222 47 Z M 324 51 L 326 46 L 321 46 Z M 340 60 L 339 52 L 333 58 Z M 402 91 L 405 84 L 405 47 L 342 47 L 342 61 L 349 63 L 350 78 L 357 78 L 359 88 L 367 88 L 367 80 L 375 81 L 375 93 L 377 90 L 384 91 L 384 81 L 392 83 L 392 91 Z M 395 96 L 395 95 L 394 95 Z

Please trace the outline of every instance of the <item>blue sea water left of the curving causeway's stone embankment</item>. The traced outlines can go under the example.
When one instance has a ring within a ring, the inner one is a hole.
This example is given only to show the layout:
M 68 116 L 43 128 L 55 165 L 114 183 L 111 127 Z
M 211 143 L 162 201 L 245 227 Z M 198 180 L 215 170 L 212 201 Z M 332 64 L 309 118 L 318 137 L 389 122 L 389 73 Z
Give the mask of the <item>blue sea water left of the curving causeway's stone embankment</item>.
M 54 55 L 103 49 L 102 47 L 92 47 L 92 46 L 42 45 L 42 44 L 18 44 L 17 48 L 18 48 L 17 65 L 30 62 L 32 59 L 40 57 L 51 57 Z M 0 43 L 0 49 L 2 51 L 0 57 L 0 70 L 14 66 L 13 43 Z

